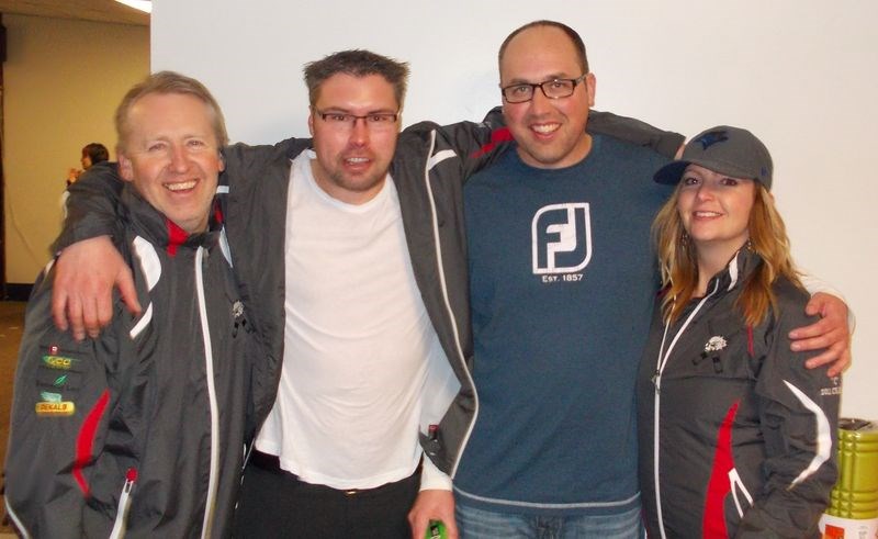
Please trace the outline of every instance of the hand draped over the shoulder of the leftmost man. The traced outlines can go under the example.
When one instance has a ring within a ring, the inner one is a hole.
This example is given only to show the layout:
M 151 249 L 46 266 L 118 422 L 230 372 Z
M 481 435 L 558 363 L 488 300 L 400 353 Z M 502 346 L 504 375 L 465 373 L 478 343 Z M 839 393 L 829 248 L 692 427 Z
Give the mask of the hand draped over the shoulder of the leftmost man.
M 140 313 L 131 269 L 109 236 L 78 242 L 55 261 L 52 316 L 74 338 L 97 338 L 113 318 L 113 285 L 134 315 Z

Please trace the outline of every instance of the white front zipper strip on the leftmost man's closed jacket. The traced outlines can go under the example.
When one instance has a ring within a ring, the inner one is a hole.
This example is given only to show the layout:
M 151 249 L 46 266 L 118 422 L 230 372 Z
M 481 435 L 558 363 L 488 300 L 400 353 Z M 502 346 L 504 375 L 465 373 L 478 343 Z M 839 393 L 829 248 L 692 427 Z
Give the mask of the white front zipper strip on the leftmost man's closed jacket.
M 213 527 L 213 513 L 216 505 L 217 474 L 219 465 L 219 412 L 216 404 L 216 388 L 213 379 L 213 347 L 211 346 L 211 328 L 207 325 L 207 306 L 204 300 L 204 276 L 202 260 L 204 247 L 195 251 L 195 290 L 199 299 L 199 316 L 201 318 L 201 337 L 204 341 L 204 367 L 207 378 L 207 396 L 211 406 L 211 471 L 207 481 L 207 499 L 204 504 L 204 520 L 201 527 L 201 537 L 211 537 Z

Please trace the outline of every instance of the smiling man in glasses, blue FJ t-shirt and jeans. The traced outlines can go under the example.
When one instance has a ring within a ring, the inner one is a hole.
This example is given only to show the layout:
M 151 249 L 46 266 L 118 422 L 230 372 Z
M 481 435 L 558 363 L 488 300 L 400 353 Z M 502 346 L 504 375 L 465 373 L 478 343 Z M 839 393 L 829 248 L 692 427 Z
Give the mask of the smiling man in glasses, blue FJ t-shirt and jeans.
M 477 419 L 454 476 L 464 537 L 638 537 L 634 381 L 657 288 L 667 158 L 585 132 L 572 29 L 500 46 L 516 141 L 464 188 Z M 833 300 L 834 301 L 834 300 Z

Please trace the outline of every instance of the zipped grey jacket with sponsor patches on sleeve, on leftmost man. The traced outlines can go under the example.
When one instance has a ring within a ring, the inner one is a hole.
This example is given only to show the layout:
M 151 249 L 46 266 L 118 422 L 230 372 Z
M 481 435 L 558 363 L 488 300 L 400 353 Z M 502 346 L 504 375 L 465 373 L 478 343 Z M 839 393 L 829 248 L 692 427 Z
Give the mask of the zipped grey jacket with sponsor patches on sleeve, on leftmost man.
M 108 165 L 94 173 L 111 175 Z M 15 373 L 7 509 L 25 537 L 228 535 L 248 422 L 248 334 L 219 229 L 188 236 L 132 188 L 117 248 L 144 312 L 97 340 L 35 285 Z

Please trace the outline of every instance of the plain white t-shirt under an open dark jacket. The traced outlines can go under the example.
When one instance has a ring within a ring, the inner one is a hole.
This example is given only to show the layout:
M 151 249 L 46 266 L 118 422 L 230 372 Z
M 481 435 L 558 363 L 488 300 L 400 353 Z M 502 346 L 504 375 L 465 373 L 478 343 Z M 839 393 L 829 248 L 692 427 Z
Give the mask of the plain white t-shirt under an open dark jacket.
M 256 447 L 308 483 L 371 489 L 417 467 L 427 364 L 443 352 L 393 181 L 346 204 L 316 184 L 312 159 L 291 168 L 283 369 Z

